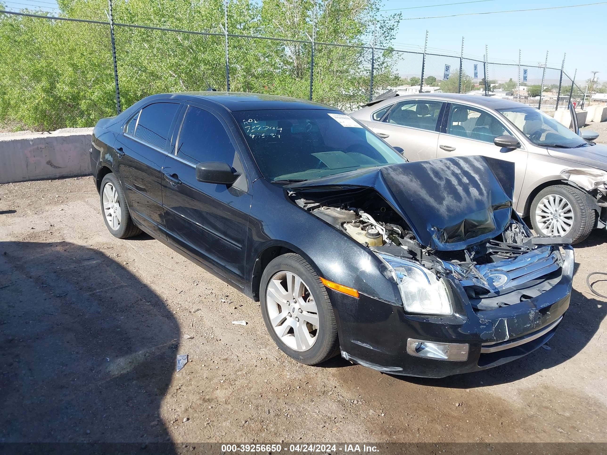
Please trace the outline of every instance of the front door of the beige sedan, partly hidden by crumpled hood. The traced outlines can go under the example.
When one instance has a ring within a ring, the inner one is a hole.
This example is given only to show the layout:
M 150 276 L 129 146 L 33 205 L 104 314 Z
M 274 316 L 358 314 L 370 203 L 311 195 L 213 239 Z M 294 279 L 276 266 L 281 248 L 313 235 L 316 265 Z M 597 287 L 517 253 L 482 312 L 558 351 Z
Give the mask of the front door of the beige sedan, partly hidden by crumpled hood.
M 447 109 L 443 132 L 438 138 L 437 158 L 482 155 L 514 163 L 516 207 L 527 169 L 527 151 L 523 147 L 506 149 L 493 144 L 497 136 L 514 136 L 493 113 L 457 103 L 449 103 Z

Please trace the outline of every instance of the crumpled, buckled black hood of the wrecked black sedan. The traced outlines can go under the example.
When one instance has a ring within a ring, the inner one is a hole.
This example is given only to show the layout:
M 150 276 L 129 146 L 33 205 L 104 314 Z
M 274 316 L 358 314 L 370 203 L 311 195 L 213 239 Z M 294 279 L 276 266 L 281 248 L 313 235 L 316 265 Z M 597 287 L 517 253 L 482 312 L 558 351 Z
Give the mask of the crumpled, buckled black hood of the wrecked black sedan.
M 514 164 L 453 157 L 361 169 L 294 183 L 285 189 L 371 187 L 409 224 L 419 243 L 449 251 L 489 240 L 512 215 Z

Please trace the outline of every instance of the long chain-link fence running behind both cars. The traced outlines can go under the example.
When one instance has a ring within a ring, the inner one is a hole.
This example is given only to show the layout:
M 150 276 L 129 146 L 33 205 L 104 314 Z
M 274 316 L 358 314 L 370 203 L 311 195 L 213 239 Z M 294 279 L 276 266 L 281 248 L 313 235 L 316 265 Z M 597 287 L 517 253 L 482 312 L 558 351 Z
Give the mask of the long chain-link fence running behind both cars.
M 93 117 L 107 116 L 110 110 L 120 112 L 144 96 L 209 87 L 312 99 L 342 110 L 356 110 L 388 89 L 402 93 L 495 95 L 545 110 L 566 107 L 570 95 L 576 103 L 584 102 L 583 91 L 569 75 L 560 68 L 548 66 L 485 63 L 463 55 L 331 44 L 312 42 L 311 39 L 127 24 L 112 21 L 115 18 L 111 16 L 111 10 L 107 16 L 109 21 L 0 11 L 0 17 L 2 15 L 10 16 L 15 25 L 19 25 L 19 21 L 35 21 L 46 24 L 40 27 L 49 30 L 60 27 L 61 35 L 65 37 L 61 53 L 67 59 L 82 60 L 84 56 L 75 55 L 78 51 L 70 43 L 73 44 L 74 39 L 87 40 L 89 57 L 95 59 L 95 68 L 101 70 L 92 80 L 84 80 L 72 74 L 84 74 L 84 69 L 66 66 L 62 70 L 58 67 L 54 77 L 61 84 L 78 84 L 81 96 L 73 104 L 80 110 L 89 110 L 90 119 L 84 123 L 90 124 L 94 123 Z M 110 21 L 114 25 L 113 31 Z M 110 36 L 112 33 L 114 36 Z M 6 55 L 13 52 L 12 49 L 6 51 Z M 39 49 L 32 55 L 50 61 L 53 58 L 49 49 Z M 5 57 L 0 62 L 4 67 L 7 63 L 19 64 L 16 57 Z M 114 66 L 117 70 L 112 74 Z M 19 86 L 21 82 L 16 80 Z M 64 96 L 56 84 L 49 87 L 29 81 L 29 85 L 16 89 L 22 90 L 24 98 L 44 92 L 44 103 L 48 103 L 46 109 L 52 109 L 53 101 L 61 105 L 59 101 Z M 83 100 L 89 100 L 88 104 Z M 69 118 L 58 118 L 52 126 L 84 125 L 76 125 Z

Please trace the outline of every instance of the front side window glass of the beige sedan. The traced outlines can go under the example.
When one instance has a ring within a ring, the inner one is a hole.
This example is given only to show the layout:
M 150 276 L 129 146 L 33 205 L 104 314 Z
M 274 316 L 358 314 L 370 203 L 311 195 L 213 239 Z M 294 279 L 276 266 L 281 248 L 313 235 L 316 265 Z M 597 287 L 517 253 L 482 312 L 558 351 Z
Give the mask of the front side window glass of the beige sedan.
M 489 143 L 497 136 L 510 134 L 493 115 L 461 104 L 451 105 L 447 133 Z

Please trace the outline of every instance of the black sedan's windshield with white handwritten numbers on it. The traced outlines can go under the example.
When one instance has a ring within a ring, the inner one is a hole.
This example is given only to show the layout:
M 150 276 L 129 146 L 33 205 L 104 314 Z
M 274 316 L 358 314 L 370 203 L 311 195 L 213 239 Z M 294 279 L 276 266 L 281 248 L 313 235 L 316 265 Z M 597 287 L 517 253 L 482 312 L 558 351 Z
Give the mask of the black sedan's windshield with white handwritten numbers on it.
M 349 115 L 322 109 L 233 112 L 269 181 L 304 181 L 406 160 Z

